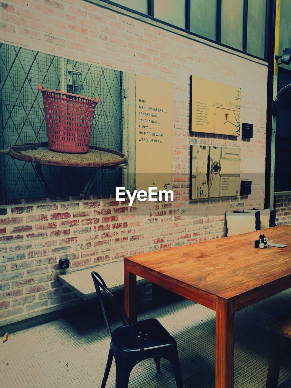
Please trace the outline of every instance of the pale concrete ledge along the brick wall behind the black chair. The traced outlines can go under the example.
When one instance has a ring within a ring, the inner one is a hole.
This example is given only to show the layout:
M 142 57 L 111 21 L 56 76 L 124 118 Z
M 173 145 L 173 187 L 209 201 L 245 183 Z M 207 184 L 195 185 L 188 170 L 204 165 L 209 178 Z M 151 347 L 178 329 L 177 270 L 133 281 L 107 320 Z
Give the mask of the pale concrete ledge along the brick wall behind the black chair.
M 121 262 L 111 262 L 96 267 L 86 268 L 71 272 L 69 274 L 58 275 L 60 283 L 76 293 L 80 298 L 88 300 L 95 298 L 96 291 L 91 276 L 91 272 L 96 271 L 106 283 L 111 292 L 123 289 L 123 260 Z M 137 283 L 147 282 L 137 276 Z

